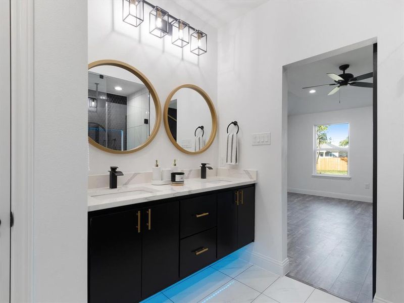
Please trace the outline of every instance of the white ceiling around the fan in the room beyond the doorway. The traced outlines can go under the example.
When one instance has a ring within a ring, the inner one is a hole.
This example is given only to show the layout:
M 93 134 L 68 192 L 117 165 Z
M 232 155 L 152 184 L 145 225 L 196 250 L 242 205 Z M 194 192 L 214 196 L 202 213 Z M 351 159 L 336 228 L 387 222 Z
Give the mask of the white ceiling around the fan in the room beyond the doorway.
M 343 86 L 340 93 L 331 96 L 327 94 L 335 86 L 315 87 L 315 93 L 306 86 L 334 83 L 326 73 L 342 72 L 338 67 L 349 64 L 347 73 L 359 76 L 373 71 L 373 46 L 365 46 L 341 55 L 330 57 L 314 63 L 291 67 L 286 71 L 288 84 L 288 115 L 321 113 L 350 108 L 372 106 L 372 88 Z M 373 82 L 373 78 L 361 82 Z M 341 100 L 341 103 L 339 103 Z

